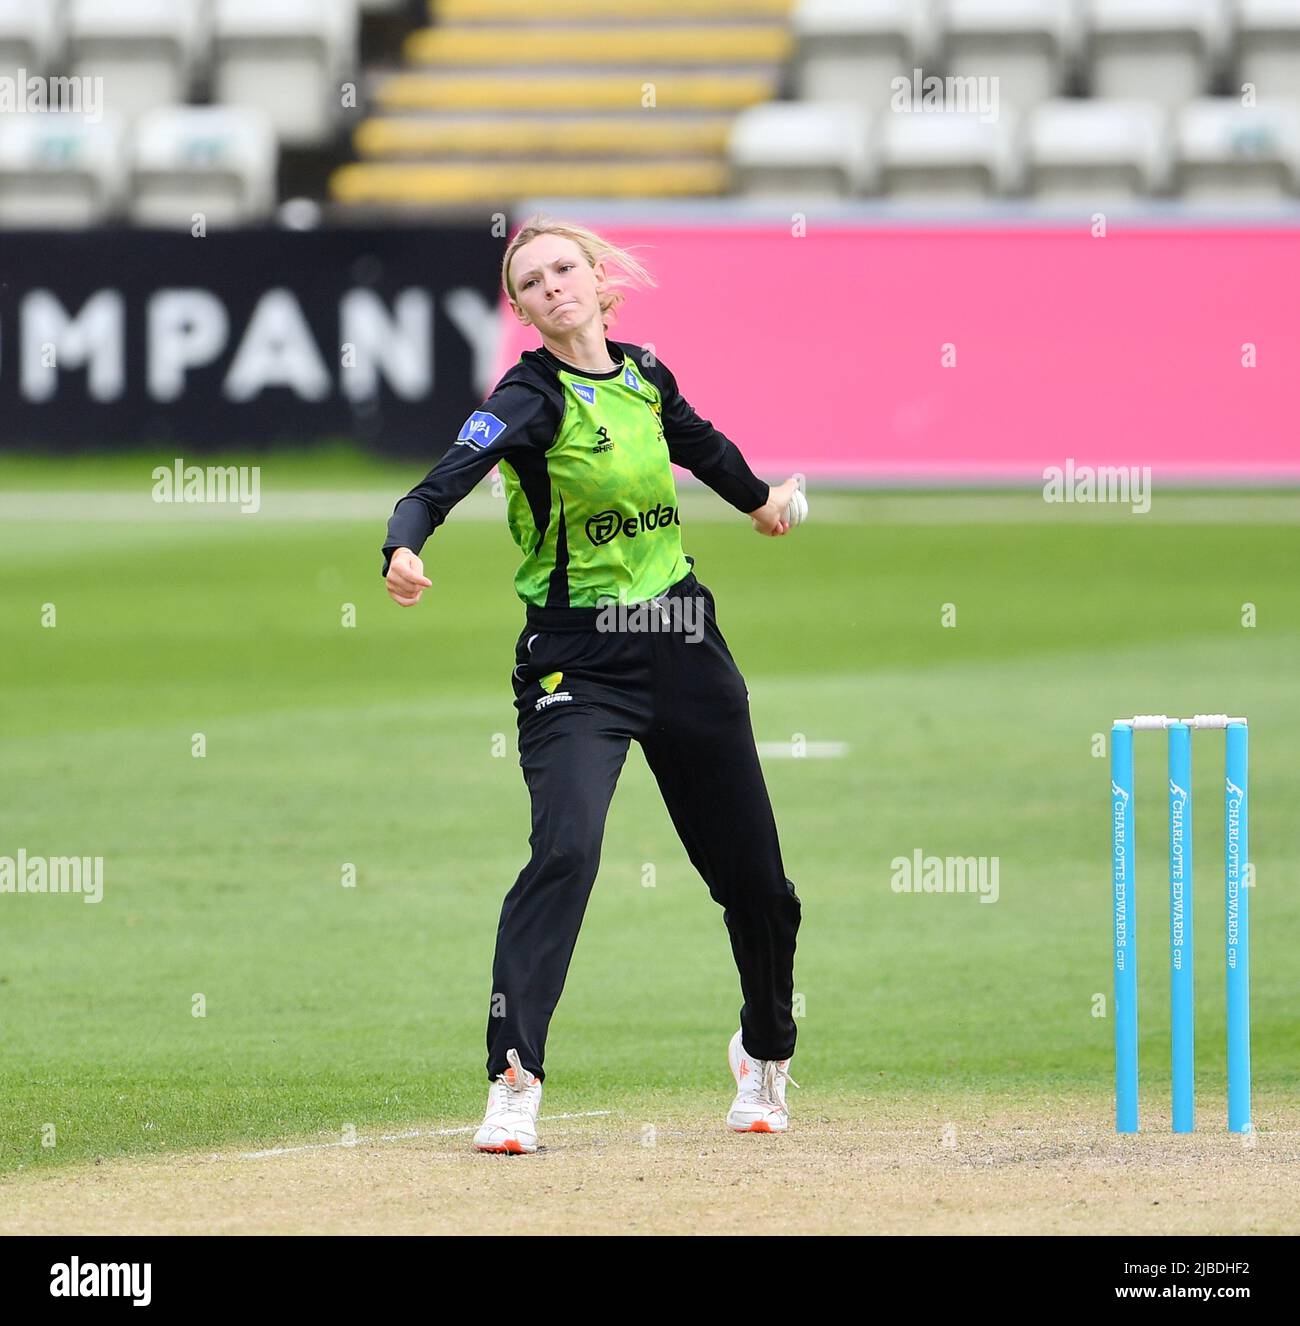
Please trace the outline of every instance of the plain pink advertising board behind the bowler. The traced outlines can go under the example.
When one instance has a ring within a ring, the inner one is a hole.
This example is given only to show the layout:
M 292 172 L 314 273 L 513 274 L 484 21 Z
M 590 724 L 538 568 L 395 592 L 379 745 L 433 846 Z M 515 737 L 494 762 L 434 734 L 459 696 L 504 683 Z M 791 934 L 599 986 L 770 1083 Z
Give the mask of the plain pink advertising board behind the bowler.
M 610 337 L 764 477 L 1300 481 L 1300 229 L 596 228 L 659 282 Z

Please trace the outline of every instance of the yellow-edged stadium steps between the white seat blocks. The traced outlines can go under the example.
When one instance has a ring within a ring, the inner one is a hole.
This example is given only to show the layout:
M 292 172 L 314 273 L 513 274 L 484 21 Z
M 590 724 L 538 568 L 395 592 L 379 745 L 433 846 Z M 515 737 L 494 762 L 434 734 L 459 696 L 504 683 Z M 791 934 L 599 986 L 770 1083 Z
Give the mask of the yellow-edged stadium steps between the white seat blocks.
M 430 0 L 371 80 L 356 208 L 726 194 L 736 111 L 777 95 L 793 0 Z

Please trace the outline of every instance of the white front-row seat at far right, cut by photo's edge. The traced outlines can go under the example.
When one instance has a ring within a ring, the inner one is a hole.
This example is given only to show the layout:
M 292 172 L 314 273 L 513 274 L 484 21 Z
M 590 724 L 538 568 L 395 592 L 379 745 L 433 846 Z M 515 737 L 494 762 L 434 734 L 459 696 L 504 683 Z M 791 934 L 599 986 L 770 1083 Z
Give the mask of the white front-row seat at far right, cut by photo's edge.
M 1300 106 L 1189 102 L 1178 115 L 1177 183 L 1190 199 L 1281 200 L 1300 191 Z

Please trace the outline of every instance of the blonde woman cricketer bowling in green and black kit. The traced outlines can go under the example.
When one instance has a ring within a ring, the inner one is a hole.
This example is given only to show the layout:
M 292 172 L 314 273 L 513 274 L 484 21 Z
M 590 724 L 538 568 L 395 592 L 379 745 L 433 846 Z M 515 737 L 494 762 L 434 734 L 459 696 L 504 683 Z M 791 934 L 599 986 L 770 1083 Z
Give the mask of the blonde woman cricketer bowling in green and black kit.
M 383 542 L 390 597 L 432 582 L 419 552 L 451 508 L 500 467 L 524 560 L 527 621 L 512 686 L 519 760 L 532 800 L 532 857 L 505 895 L 487 1028 L 480 1151 L 537 1150 L 547 1030 L 600 865 L 614 785 L 639 743 L 673 825 L 704 878 L 740 972 L 728 1046 L 727 1126 L 781 1132 L 795 1052 L 800 900 L 785 878 L 749 724 L 749 692 L 718 629 L 714 595 L 682 552 L 671 465 L 695 473 L 785 534 L 807 503 L 797 479 L 769 488 L 736 446 L 687 404 L 669 369 L 606 338 L 641 264 L 594 232 L 535 216 L 509 241 L 501 284 L 541 346 L 525 350 L 430 473 L 393 511 Z M 793 1083 L 797 1086 L 799 1083 Z

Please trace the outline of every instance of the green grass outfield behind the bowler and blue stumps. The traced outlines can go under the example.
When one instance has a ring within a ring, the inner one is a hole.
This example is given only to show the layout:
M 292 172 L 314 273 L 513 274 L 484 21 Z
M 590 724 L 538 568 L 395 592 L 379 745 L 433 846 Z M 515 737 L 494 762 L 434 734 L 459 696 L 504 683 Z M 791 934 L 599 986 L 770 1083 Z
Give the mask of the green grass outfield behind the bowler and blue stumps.
M 426 549 L 434 587 L 403 610 L 378 546 L 421 465 L 264 457 L 261 511 L 244 516 L 154 504 L 149 471 L 167 459 L 0 460 L 0 855 L 105 858 L 97 906 L 0 894 L 0 1168 L 478 1123 L 497 912 L 529 823 L 500 500 L 484 485 L 458 508 Z M 1136 711 L 1240 711 L 1267 1128 L 1300 1059 L 1300 496 L 1157 488 L 1145 516 L 1032 492 L 809 496 L 807 528 L 759 540 L 712 493 L 683 492 L 684 546 L 759 741 L 846 747 L 764 760 L 804 906 L 796 1124 L 915 1099 L 937 1126 L 1000 1102 L 1104 1105 L 1094 735 Z M 1169 1083 L 1163 758 L 1143 735 L 1153 1127 Z M 1195 766 L 1198 1122 L 1219 1130 L 1222 735 L 1197 736 Z M 894 892 L 891 861 L 918 849 L 998 858 L 998 902 Z M 638 1127 L 662 1107 L 720 1127 L 739 1002 L 722 912 L 634 748 L 552 1024 L 544 1118 Z

